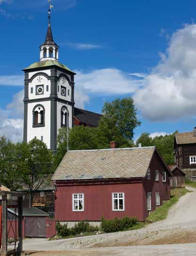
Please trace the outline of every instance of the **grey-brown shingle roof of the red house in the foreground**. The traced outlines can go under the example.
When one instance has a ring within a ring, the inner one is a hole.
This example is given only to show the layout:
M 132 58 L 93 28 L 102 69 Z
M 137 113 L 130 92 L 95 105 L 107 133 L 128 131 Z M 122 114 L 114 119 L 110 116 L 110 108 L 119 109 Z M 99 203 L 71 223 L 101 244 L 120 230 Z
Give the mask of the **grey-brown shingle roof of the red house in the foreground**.
M 69 151 L 52 180 L 145 177 L 155 147 Z

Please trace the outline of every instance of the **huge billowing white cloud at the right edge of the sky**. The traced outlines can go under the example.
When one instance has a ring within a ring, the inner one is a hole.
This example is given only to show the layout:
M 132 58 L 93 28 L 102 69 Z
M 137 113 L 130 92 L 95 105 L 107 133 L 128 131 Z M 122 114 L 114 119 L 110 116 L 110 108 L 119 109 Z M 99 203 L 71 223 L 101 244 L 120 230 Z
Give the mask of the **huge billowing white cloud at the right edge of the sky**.
M 134 95 L 136 106 L 151 121 L 196 116 L 196 25 L 172 34 L 160 62 Z

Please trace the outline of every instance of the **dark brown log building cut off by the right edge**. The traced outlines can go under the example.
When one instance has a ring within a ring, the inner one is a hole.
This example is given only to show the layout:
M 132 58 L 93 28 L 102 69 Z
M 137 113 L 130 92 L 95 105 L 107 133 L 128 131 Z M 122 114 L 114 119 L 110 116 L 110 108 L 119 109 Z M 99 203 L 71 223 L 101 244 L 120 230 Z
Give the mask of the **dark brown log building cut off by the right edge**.
M 196 128 L 192 132 L 176 133 L 174 138 L 175 164 L 196 181 Z

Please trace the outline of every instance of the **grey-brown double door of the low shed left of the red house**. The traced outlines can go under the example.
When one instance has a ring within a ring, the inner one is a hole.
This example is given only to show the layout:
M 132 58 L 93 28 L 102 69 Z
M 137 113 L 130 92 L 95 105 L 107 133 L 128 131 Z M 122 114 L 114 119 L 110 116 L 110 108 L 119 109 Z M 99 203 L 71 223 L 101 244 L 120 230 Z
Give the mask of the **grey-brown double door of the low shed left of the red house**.
M 46 218 L 26 217 L 25 237 L 46 237 Z

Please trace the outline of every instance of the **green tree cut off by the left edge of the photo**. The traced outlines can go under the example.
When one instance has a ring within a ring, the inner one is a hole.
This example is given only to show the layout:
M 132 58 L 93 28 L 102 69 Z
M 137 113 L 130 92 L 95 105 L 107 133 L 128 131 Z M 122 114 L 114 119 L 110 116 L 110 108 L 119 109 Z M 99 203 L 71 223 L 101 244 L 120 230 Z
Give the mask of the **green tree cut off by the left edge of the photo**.
M 0 137 L 0 182 L 11 190 L 22 188 L 20 167 L 16 145 L 6 137 Z

